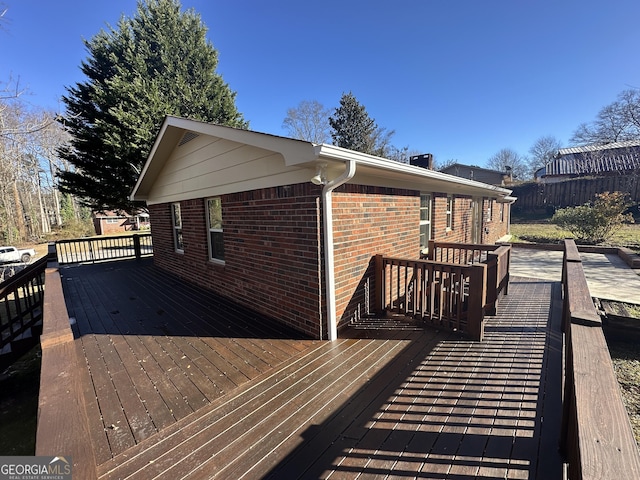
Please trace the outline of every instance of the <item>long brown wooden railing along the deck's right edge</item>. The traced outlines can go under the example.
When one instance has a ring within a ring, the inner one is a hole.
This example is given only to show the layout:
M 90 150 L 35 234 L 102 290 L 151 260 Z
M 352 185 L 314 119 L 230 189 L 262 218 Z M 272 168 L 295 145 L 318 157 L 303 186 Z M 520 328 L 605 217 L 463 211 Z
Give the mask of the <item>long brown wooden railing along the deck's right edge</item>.
M 640 454 L 573 240 L 562 266 L 565 382 L 561 447 L 572 480 L 640 478 Z

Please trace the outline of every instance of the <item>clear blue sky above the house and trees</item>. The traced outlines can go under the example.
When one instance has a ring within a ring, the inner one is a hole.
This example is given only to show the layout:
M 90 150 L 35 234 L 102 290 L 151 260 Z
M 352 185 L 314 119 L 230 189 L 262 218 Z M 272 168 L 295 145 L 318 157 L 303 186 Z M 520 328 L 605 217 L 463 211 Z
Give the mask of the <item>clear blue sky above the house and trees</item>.
M 59 111 L 83 81 L 82 39 L 135 0 L 0 0 L 0 81 Z M 619 92 L 640 88 L 638 0 L 182 0 L 219 52 L 252 130 L 285 135 L 302 100 L 335 108 L 353 92 L 393 144 L 484 165 L 527 154 L 541 136 L 567 146 Z

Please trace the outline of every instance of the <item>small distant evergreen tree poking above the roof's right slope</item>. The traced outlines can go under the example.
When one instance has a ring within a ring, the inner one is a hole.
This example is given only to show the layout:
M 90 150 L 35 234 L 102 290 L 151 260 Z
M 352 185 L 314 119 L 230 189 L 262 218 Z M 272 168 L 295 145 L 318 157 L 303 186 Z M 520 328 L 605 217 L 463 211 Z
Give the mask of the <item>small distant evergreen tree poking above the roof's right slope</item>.
M 329 125 L 336 146 L 374 154 L 378 127 L 351 92 L 342 94 L 340 106 L 329 117 Z

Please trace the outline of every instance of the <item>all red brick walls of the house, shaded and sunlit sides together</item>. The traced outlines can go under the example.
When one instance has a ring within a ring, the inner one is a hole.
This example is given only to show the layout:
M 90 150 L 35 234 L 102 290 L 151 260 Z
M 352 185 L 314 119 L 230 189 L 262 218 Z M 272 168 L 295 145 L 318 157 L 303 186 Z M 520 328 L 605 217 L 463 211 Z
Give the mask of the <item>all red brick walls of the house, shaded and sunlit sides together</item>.
M 170 204 L 150 207 L 156 264 L 315 338 L 326 338 L 321 260 L 321 187 L 292 185 L 222 197 L 225 263 L 208 259 L 206 199 L 181 202 L 184 253 L 173 246 Z M 446 227 L 446 194 L 432 193 L 432 238 L 472 241 L 472 199 L 456 196 Z M 483 202 L 488 208 L 488 200 Z M 420 192 L 343 185 L 333 193 L 339 327 L 372 310 L 373 257 L 420 255 Z M 505 208 L 508 208 L 505 206 Z M 482 242 L 506 232 L 493 202 Z M 485 218 L 487 212 L 485 211 Z

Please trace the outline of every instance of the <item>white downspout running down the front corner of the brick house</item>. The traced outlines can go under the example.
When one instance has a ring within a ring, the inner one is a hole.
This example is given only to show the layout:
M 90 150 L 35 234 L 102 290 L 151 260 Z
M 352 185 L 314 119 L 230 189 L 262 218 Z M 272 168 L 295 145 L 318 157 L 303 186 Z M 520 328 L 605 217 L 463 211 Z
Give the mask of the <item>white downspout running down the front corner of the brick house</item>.
M 336 279 L 333 258 L 333 207 L 331 192 L 347 183 L 356 174 L 356 161 L 347 160 L 346 170 L 335 180 L 327 182 L 322 188 L 324 218 L 325 279 L 327 290 L 327 335 L 329 340 L 338 339 L 338 320 L 336 318 Z

